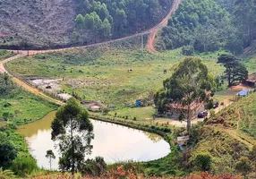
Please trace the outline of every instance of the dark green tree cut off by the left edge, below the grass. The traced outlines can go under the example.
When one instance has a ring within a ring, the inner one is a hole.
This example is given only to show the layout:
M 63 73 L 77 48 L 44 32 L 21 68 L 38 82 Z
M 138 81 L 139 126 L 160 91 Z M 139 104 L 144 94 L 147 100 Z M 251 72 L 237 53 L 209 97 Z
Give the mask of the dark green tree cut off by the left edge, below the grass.
M 0 132 L 0 168 L 8 168 L 17 157 L 17 149 L 4 132 Z

